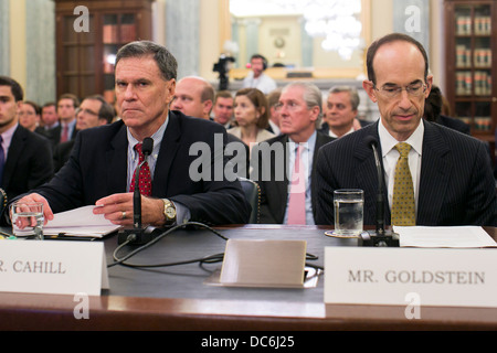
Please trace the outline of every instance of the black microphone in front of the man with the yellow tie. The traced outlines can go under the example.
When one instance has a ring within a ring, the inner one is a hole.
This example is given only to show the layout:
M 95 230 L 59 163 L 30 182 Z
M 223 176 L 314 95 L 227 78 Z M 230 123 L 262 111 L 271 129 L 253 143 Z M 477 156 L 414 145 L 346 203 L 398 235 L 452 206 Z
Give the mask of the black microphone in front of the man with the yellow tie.
M 362 232 L 359 237 L 360 246 L 379 246 L 379 247 L 398 247 L 399 246 L 399 234 L 392 231 L 384 229 L 384 192 L 383 192 L 383 164 L 381 163 L 380 156 L 378 153 L 378 140 L 368 136 L 364 139 L 366 145 L 372 149 L 374 154 L 374 163 L 377 165 L 378 174 L 378 192 L 377 192 L 377 220 L 376 220 L 376 231 Z

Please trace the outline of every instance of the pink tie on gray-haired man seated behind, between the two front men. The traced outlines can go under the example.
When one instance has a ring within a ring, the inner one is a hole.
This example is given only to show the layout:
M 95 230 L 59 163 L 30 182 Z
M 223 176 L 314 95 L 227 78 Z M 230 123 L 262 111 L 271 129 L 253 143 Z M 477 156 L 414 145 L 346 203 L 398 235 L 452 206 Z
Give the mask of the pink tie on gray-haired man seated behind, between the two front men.
M 295 153 L 294 172 L 292 174 L 290 194 L 288 201 L 287 224 L 306 224 L 306 174 L 302 162 L 303 147 L 298 146 Z

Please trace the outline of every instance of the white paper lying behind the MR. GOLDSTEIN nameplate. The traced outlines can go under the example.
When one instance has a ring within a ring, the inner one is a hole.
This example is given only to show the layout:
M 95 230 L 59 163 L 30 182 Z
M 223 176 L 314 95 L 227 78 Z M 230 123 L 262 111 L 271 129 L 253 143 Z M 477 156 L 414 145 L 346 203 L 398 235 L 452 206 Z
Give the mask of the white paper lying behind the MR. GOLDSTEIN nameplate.
M 497 247 L 497 243 L 479 226 L 429 227 L 394 226 L 401 247 Z

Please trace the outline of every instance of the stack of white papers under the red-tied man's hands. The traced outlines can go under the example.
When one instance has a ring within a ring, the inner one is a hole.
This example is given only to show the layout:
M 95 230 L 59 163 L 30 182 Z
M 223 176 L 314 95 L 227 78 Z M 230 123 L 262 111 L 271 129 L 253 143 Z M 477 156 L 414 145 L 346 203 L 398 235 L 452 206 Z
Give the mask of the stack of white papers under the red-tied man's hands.
M 43 234 L 47 236 L 78 236 L 102 238 L 119 228 L 119 225 L 105 220 L 103 214 L 94 214 L 96 206 L 83 206 L 80 208 L 55 213 L 52 221 L 43 227 Z

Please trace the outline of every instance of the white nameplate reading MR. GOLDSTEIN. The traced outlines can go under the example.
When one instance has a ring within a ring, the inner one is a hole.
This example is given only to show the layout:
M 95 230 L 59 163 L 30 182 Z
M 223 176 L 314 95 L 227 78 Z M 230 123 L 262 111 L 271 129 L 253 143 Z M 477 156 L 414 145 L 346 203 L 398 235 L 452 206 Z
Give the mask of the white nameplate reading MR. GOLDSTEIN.
M 325 303 L 497 307 L 496 249 L 325 248 Z

